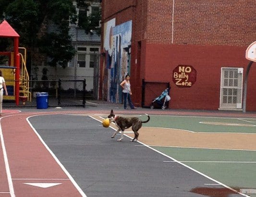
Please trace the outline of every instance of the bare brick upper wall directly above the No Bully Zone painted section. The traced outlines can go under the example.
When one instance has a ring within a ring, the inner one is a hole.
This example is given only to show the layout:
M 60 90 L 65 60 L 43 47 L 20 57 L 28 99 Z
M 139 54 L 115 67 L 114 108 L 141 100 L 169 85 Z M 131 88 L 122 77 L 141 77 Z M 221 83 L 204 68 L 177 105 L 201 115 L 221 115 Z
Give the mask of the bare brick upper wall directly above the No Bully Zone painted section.
M 255 0 L 148 0 L 150 43 L 247 46 L 256 37 Z

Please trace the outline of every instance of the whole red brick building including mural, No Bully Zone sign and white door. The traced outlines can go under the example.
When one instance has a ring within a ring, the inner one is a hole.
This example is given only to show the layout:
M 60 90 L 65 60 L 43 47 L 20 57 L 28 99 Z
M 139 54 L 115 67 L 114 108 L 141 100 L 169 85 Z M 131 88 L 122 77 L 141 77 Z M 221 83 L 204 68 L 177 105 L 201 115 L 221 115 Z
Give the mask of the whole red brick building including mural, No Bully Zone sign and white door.
M 102 0 L 101 7 L 100 99 L 121 103 L 118 84 L 130 73 L 137 106 L 170 83 L 170 108 L 242 110 L 255 0 Z M 246 111 L 256 111 L 255 97 L 256 63 Z

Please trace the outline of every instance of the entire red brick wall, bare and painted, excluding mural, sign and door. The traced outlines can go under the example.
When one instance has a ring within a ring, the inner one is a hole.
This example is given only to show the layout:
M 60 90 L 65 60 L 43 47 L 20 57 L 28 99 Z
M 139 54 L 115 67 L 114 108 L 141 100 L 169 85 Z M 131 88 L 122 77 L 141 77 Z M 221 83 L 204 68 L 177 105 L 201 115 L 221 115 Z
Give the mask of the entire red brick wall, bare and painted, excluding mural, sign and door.
M 103 0 L 103 22 L 116 18 L 118 25 L 133 20 L 133 101 L 141 104 L 142 79 L 170 81 L 171 108 L 216 110 L 220 68 L 243 67 L 245 74 L 245 49 L 256 38 L 256 1 L 175 0 L 174 12 L 172 3 L 173 0 Z M 179 64 L 191 65 L 197 71 L 191 88 L 178 88 L 172 82 L 172 70 Z M 247 88 L 249 111 L 256 111 L 255 64 Z M 151 102 L 153 98 L 147 99 Z

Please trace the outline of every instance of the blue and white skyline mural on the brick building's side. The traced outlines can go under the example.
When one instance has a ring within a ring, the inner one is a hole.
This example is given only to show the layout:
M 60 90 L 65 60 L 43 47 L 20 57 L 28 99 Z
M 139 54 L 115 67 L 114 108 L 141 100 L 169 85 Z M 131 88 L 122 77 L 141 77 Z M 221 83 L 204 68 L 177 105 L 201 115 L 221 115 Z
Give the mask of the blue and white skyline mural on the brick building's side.
M 122 88 L 119 84 L 130 73 L 132 21 L 117 26 L 114 23 L 112 19 L 104 26 L 106 73 L 103 98 L 112 103 L 122 103 Z

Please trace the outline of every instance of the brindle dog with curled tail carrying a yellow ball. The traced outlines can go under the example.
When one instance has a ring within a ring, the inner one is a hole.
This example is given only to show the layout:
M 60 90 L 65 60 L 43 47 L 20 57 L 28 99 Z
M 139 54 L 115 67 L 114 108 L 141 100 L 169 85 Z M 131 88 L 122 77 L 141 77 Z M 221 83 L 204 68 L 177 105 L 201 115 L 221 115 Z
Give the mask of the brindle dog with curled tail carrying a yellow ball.
M 137 117 L 122 117 L 122 116 L 116 116 L 114 115 L 113 110 L 111 110 L 110 115 L 108 118 L 110 119 L 110 122 L 114 122 L 115 125 L 118 127 L 117 131 L 113 133 L 111 138 L 114 138 L 115 135 L 119 132 L 122 131 L 121 138 L 118 139 L 117 141 L 121 141 L 123 139 L 123 133 L 124 129 L 132 127 L 132 130 L 134 131 L 134 139 L 131 139 L 131 141 L 137 141 L 139 137 L 138 130 L 142 127 L 142 123 L 146 123 L 150 120 L 150 117 L 146 114 L 148 117 L 146 121 L 141 121 Z

